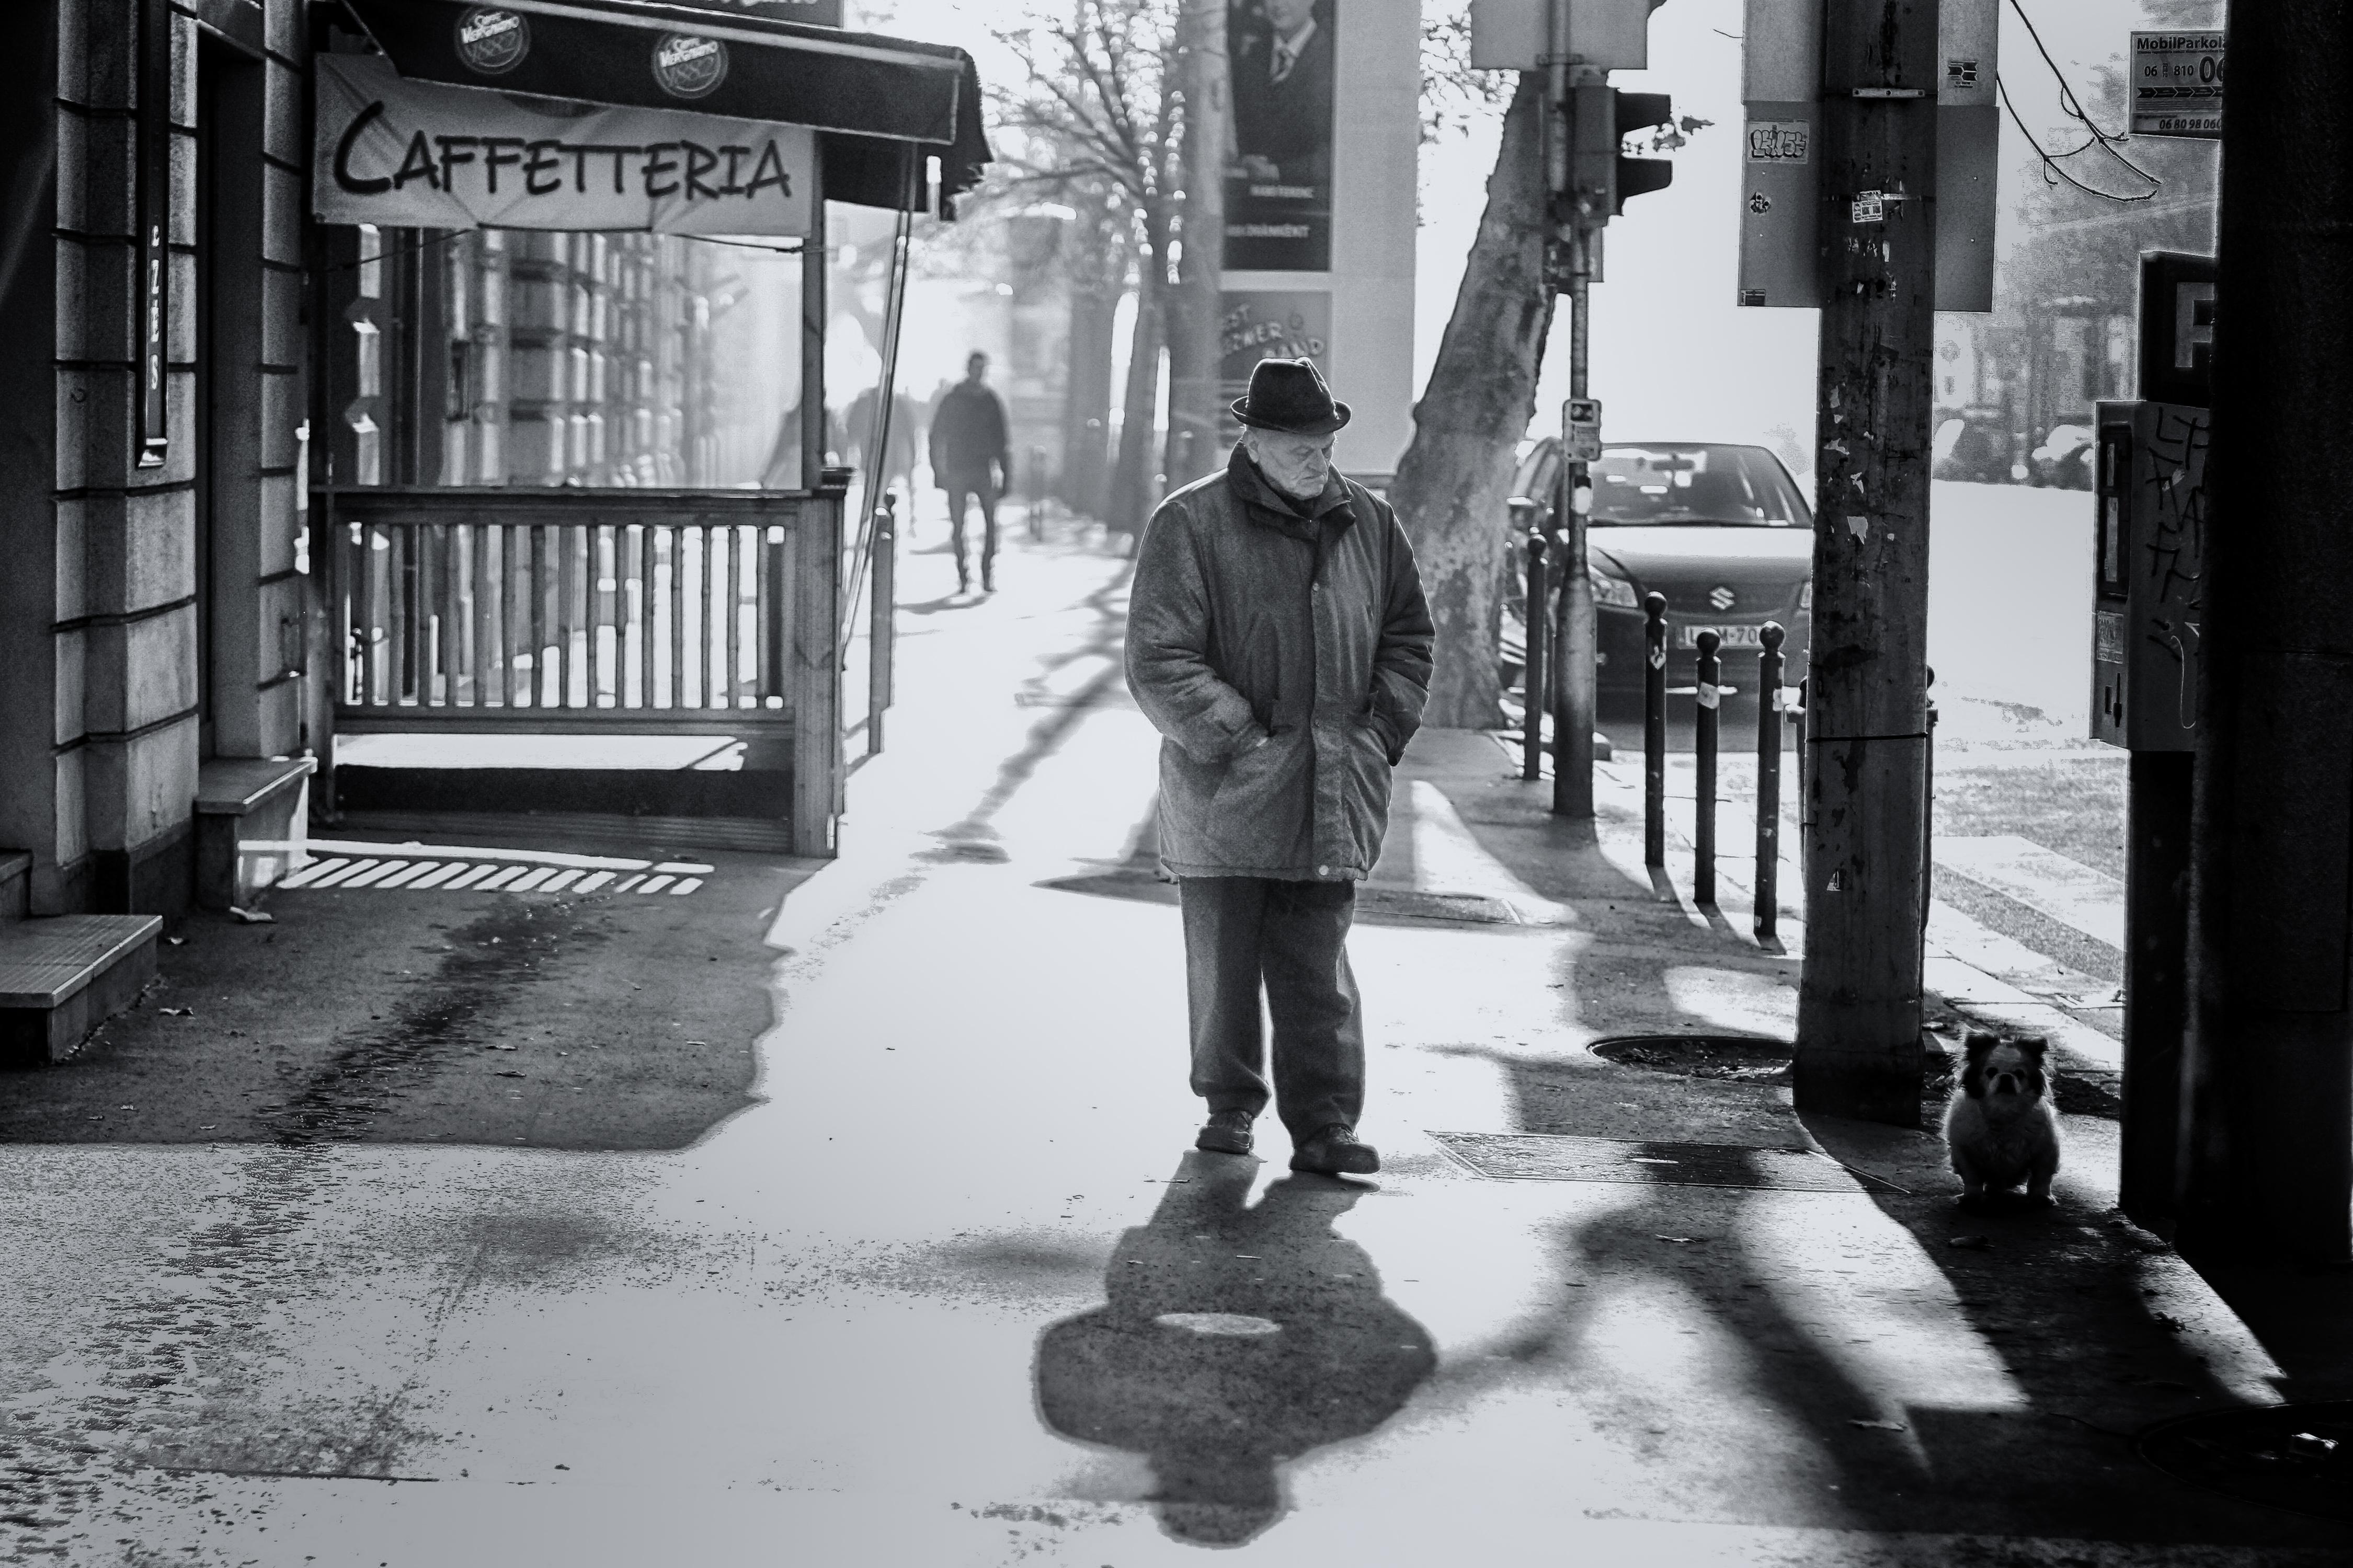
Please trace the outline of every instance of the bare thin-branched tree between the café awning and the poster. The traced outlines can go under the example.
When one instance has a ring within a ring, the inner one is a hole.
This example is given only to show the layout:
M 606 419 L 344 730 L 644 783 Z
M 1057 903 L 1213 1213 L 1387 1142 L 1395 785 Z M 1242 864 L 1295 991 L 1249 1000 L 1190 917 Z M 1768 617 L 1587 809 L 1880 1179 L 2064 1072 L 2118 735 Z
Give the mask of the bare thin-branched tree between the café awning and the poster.
M 1136 277 L 1111 522 L 1136 531 L 1153 508 L 1160 350 L 1181 235 L 1184 94 L 1179 0 L 1075 0 L 1068 21 L 1000 33 L 1028 75 L 998 94 L 1012 132 L 1007 190 L 1111 190 L 1125 202 Z

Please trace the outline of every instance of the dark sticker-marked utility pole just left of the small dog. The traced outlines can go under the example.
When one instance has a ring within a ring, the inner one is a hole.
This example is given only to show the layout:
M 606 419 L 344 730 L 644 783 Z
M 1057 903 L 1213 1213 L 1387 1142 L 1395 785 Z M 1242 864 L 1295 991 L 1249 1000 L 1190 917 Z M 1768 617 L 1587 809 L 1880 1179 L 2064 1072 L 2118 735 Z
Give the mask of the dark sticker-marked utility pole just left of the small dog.
M 1920 1124 L 1937 0 L 1824 0 L 1798 1110 Z M 2301 160 L 2299 160 L 2301 162 Z

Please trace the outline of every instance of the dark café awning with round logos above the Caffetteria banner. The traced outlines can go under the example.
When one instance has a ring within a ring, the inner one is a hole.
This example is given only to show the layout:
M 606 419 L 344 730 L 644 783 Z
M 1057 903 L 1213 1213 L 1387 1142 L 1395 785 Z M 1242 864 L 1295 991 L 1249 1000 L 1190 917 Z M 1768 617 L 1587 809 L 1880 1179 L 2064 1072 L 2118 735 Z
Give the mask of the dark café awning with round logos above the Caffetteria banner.
M 635 0 L 344 0 L 400 75 L 816 132 L 828 200 L 939 209 L 988 165 L 981 78 L 944 45 Z

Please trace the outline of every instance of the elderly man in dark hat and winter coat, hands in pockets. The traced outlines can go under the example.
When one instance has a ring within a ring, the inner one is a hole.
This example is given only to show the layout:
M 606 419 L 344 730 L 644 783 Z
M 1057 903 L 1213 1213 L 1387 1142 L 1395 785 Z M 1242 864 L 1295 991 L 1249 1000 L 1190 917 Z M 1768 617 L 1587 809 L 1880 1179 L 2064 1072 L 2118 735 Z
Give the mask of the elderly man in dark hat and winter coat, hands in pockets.
M 1160 729 L 1160 858 L 1184 900 L 1195 1147 L 1249 1154 L 1268 1098 L 1292 1168 L 1365 1175 L 1355 884 L 1421 724 L 1431 611 L 1405 529 L 1332 468 L 1348 423 L 1311 360 L 1264 360 L 1226 473 L 1136 552 L 1127 686 Z M 1273 1084 L 1259 992 L 1275 1025 Z

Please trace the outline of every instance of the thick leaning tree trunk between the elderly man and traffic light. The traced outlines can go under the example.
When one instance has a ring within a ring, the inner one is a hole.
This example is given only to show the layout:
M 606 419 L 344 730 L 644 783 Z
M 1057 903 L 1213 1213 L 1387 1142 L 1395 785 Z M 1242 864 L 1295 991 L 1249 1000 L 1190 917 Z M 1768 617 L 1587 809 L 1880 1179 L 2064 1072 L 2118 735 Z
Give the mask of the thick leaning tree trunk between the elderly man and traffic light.
M 1511 534 L 1506 491 L 1513 449 L 1537 416 L 1537 371 L 1553 322 L 1544 207 L 1544 73 L 1522 71 L 1471 266 L 1391 487 L 1438 621 L 1438 670 L 1421 722 L 1440 729 L 1494 729 L 1504 717 L 1494 625 Z

